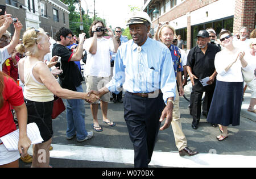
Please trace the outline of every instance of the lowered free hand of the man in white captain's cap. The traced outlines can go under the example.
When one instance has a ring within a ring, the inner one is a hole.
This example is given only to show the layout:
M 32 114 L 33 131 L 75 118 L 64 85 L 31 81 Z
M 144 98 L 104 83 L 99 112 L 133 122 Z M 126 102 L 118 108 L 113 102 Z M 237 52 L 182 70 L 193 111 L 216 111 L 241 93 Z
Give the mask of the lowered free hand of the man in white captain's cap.
M 166 118 L 166 122 L 162 127 L 160 127 L 160 131 L 165 130 L 166 128 L 170 127 L 172 122 L 172 109 L 174 109 L 174 105 L 172 102 L 167 102 L 167 106 L 164 107 L 164 110 L 162 111 L 162 115 L 160 116 L 160 122 L 163 122 L 163 120 Z

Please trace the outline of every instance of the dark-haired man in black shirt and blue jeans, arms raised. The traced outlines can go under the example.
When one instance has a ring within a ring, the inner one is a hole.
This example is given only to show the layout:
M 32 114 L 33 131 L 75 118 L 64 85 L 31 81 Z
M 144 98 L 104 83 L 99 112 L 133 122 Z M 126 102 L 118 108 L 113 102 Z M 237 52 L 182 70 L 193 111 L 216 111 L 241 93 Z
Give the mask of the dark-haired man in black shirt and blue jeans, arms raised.
M 74 61 L 82 59 L 82 47 L 84 45 L 85 33 L 79 35 L 80 43 L 77 51 L 73 53 L 71 49 L 66 46 L 72 40 L 72 31 L 67 28 L 60 28 L 56 33 L 57 43 L 53 45 L 52 56 L 61 57 L 60 66 L 63 69 L 63 74 L 59 75 L 59 82 L 62 88 L 73 91 L 83 92 L 82 90 L 82 75 Z M 76 135 L 77 141 L 84 141 L 92 138 L 93 132 L 87 132 L 85 129 L 85 106 L 82 99 L 67 99 L 67 120 L 68 128 L 66 137 L 68 140 L 74 138 Z

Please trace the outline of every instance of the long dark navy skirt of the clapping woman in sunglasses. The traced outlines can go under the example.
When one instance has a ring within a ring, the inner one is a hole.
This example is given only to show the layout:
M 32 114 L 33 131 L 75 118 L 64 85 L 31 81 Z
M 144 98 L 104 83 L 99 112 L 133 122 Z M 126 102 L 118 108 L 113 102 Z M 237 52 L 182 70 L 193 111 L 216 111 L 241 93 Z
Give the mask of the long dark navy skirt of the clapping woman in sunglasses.
M 240 125 L 243 82 L 217 81 L 207 116 L 210 123 Z

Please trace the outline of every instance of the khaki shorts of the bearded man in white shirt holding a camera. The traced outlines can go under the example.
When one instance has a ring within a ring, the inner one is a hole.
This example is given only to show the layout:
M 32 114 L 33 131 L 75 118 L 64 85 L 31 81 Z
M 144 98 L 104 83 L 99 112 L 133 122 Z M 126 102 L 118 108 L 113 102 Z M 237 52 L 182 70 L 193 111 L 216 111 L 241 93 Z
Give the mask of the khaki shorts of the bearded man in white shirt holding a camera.
M 90 90 L 100 90 L 110 81 L 110 77 L 94 77 L 94 76 L 86 76 L 86 91 L 89 92 Z M 104 94 L 101 96 L 101 100 L 104 102 L 110 101 L 110 93 Z M 94 104 L 98 103 L 98 101 L 94 102 Z

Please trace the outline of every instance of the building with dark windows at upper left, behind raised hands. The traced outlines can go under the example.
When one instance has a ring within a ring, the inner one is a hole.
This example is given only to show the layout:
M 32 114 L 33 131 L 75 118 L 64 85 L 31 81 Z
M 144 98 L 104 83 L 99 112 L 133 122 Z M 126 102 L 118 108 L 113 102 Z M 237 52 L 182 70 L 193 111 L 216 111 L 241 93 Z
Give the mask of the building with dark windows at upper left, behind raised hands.
M 0 3 L 23 24 L 22 34 L 29 27 L 41 27 L 55 39 L 60 27 L 69 28 L 68 6 L 59 0 L 0 0 Z M 13 26 L 8 30 L 14 33 Z

